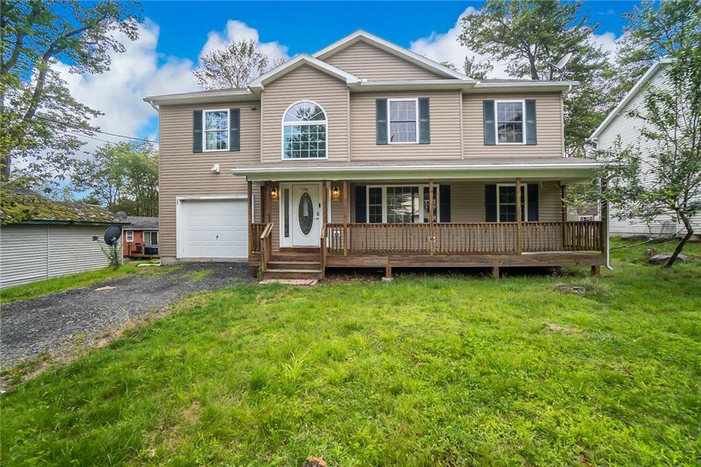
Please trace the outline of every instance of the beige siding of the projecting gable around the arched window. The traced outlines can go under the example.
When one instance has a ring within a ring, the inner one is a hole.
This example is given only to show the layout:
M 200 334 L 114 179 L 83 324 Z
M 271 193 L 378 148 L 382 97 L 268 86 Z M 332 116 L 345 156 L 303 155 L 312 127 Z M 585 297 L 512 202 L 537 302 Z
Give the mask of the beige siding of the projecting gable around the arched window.
M 326 111 L 329 160 L 347 160 L 348 90 L 346 83 L 318 69 L 302 65 L 268 84 L 263 92 L 261 161 L 285 162 L 282 161 L 283 114 L 290 104 L 300 100 L 316 102 Z

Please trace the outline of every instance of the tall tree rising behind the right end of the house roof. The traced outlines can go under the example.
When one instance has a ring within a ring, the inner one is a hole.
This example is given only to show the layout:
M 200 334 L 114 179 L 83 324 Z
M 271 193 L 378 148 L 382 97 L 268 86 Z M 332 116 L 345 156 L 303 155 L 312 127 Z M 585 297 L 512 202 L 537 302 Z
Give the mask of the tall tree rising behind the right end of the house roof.
M 464 46 L 490 60 L 508 61 L 506 70 L 513 78 L 580 82 L 565 98 L 570 156 L 585 154 L 587 137 L 612 104 L 608 55 L 592 41 L 597 23 L 582 14 L 582 7 L 581 0 L 488 0 L 479 13 L 461 20 L 459 37 Z M 566 53 L 573 57 L 561 72 L 552 64 Z M 468 62 L 475 67 L 474 58 Z

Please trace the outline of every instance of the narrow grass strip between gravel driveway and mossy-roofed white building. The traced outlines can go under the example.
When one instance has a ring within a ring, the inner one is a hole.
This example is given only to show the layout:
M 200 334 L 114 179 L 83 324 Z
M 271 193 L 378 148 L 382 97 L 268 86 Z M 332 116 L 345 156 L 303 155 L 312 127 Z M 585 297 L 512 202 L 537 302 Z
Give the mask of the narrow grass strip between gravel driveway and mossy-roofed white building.
M 140 262 L 139 262 L 140 263 Z M 125 276 L 136 273 L 155 273 L 163 271 L 161 268 L 147 267 L 139 268 L 138 263 L 123 264 L 117 269 L 112 267 L 93 269 L 93 271 L 84 271 L 70 276 L 55 277 L 47 280 L 39 280 L 37 282 L 17 285 L 0 291 L 0 304 L 16 302 L 18 300 L 26 300 L 41 295 L 53 294 L 62 290 L 74 289 L 76 287 L 86 287 L 93 285 L 103 280 L 116 276 Z

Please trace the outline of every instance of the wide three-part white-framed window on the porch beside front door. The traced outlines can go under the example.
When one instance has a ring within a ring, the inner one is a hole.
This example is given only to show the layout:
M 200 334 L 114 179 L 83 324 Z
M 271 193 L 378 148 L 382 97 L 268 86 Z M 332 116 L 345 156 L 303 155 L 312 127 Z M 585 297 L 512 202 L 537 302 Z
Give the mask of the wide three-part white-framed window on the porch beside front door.
M 438 187 L 434 187 L 434 221 L 438 217 Z M 428 186 L 367 187 L 367 222 L 370 224 L 416 224 L 428 222 Z

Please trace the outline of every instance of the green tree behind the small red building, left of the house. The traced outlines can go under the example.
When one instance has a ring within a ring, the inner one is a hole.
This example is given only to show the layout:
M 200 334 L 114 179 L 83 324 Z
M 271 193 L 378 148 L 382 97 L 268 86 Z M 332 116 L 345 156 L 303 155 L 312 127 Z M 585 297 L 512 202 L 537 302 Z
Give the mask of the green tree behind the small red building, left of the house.
M 158 215 L 158 156 L 152 144 L 105 144 L 77 161 L 72 187 L 110 210 Z

